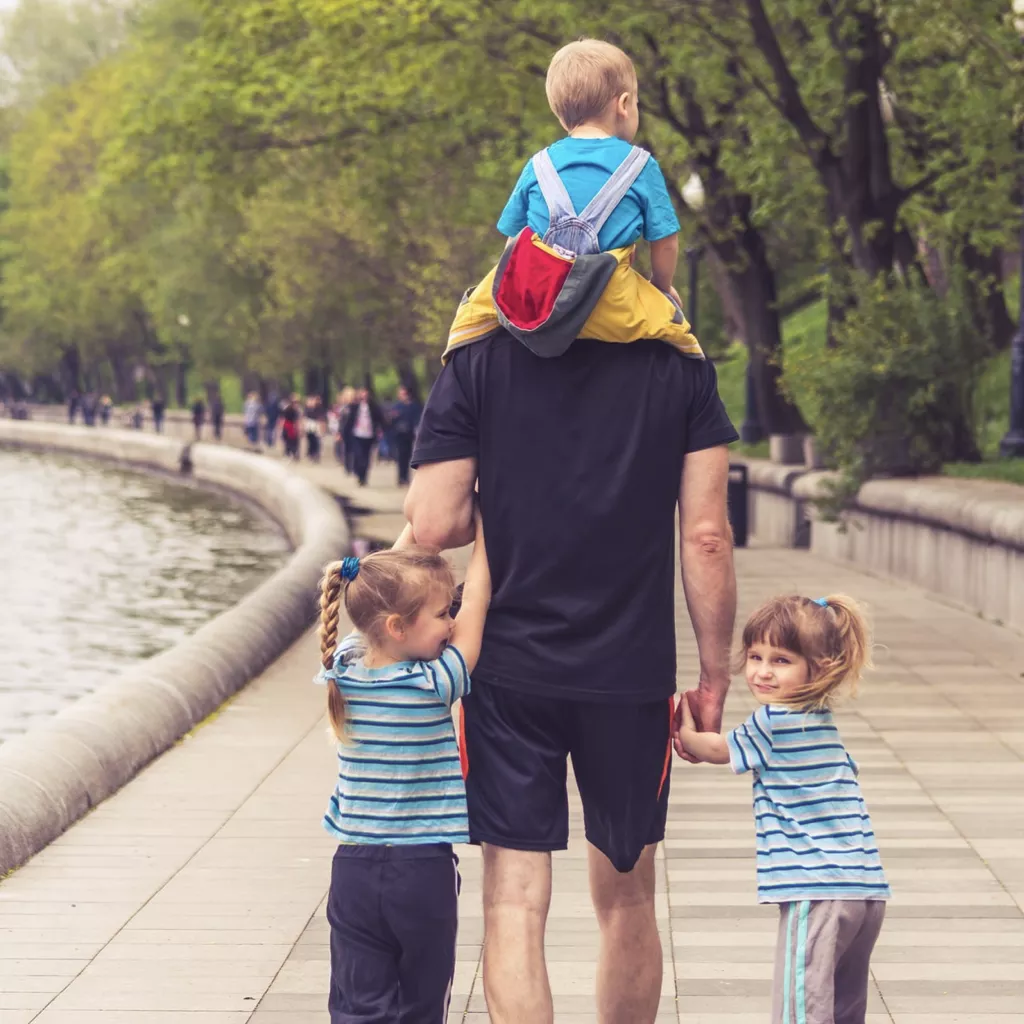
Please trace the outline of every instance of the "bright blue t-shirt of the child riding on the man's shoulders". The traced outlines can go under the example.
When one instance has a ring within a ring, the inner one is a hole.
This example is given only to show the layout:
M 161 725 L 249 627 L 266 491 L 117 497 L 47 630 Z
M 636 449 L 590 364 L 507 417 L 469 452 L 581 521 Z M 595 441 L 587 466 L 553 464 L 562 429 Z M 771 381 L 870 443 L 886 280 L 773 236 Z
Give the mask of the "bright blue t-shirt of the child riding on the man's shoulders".
M 600 191 L 618 165 L 629 156 L 632 145 L 621 138 L 559 139 L 548 152 L 562 179 L 577 213 Z M 534 173 L 534 162 L 522 169 L 519 180 L 498 221 L 498 230 L 508 238 L 529 225 L 544 238 L 548 229 L 548 204 Z M 641 236 L 657 242 L 679 230 L 679 218 L 669 198 L 665 175 L 651 157 L 630 190 L 612 211 L 598 232 L 602 252 L 632 245 Z

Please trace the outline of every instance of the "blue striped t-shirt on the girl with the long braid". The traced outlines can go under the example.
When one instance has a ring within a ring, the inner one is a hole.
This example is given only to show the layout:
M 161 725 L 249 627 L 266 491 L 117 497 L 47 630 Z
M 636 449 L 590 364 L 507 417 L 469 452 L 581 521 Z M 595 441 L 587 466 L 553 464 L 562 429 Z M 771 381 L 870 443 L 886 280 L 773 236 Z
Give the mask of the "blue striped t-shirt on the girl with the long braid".
M 337 681 L 347 729 L 324 827 L 343 843 L 468 843 L 451 711 L 469 692 L 462 654 L 447 647 L 435 662 L 368 669 L 362 643 L 356 633 L 346 637 L 334 669 L 316 677 Z

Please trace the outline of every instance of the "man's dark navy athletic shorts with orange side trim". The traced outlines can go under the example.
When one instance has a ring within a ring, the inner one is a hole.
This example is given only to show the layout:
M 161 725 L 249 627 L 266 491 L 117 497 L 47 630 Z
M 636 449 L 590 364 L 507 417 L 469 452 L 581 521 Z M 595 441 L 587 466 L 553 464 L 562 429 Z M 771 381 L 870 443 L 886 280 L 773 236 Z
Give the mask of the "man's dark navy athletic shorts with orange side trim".
M 474 682 L 460 726 L 472 841 L 564 850 L 571 758 L 587 840 L 632 870 L 665 838 L 674 711 L 675 697 L 598 703 Z

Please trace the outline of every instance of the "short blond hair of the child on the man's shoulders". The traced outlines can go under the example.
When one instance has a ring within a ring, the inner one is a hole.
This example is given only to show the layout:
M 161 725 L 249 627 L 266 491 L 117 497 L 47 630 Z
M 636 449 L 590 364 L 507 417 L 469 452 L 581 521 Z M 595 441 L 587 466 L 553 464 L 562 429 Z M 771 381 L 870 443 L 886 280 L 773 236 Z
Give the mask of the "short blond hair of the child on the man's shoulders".
M 600 117 L 612 99 L 636 88 L 633 61 L 600 39 L 563 46 L 548 66 L 548 102 L 568 131 Z

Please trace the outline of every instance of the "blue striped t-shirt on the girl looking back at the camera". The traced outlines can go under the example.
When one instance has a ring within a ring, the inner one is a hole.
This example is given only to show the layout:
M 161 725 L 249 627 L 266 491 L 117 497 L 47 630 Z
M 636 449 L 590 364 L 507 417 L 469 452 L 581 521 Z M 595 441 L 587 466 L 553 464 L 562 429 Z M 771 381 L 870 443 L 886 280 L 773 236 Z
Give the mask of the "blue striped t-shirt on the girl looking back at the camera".
M 857 766 L 831 712 L 762 705 L 727 736 L 754 773 L 758 899 L 889 899 Z

